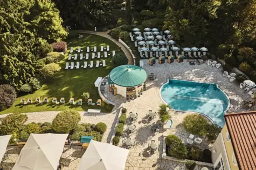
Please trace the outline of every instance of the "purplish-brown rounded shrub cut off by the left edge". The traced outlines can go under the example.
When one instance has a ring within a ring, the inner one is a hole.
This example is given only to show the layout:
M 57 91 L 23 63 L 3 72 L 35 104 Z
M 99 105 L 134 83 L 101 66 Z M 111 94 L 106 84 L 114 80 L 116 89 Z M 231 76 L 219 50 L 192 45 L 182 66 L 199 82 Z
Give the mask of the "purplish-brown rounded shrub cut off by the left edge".
M 16 97 L 15 88 L 9 84 L 0 85 L 0 110 L 11 107 Z

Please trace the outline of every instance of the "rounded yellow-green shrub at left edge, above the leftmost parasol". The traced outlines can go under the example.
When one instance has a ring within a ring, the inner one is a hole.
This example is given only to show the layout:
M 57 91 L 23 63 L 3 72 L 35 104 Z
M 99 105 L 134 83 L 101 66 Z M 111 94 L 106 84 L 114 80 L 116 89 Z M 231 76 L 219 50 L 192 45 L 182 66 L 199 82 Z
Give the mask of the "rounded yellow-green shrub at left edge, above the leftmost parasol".
M 0 129 L 3 135 L 13 134 L 23 129 L 23 124 L 27 121 L 27 115 L 21 113 L 12 113 L 4 117 L 0 124 Z

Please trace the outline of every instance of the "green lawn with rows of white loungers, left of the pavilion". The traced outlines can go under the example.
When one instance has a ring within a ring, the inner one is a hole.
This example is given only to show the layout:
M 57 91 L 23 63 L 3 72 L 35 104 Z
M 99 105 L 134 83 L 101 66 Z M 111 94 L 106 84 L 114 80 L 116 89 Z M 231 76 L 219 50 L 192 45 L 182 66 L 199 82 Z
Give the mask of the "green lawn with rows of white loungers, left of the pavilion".
M 74 109 L 74 110 L 87 110 L 87 109 L 101 109 L 102 112 L 110 112 L 106 109 L 106 104 L 102 102 L 101 107 L 100 106 L 88 106 L 85 101 L 83 101 L 82 106 L 73 106 L 68 104 L 68 101 L 71 97 L 77 101 L 81 98 L 81 94 L 83 92 L 89 92 L 91 94 L 91 97 L 93 102 L 96 102 L 99 97 L 98 88 L 94 86 L 94 82 L 98 77 L 105 77 L 108 75 L 108 73 L 113 69 L 112 64 L 112 50 L 115 50 L 117 52 L 117 49 L 119 48 L 117 45 L 115 45 L 114 42 L 103 38 L 98 35 L 91 35 L 91 34 L 84 34 L 84 38 L 78 39 L 71 39 L 67 40 L 67 47 L 68 51 L 70 50 L 70 47 L 74 47 L 74 49 L 77 49 L 78 46 L 80 46 L 84 50 L 84 56 L 86 52 L 86 47 L 89 46 L 91 49 L 93 49 L 93 46 L 97 47 L 97 51 L 100 51 L 100 46 L 106 46 L 109 45 L 110 55 L 107 58 L 100 58 L 99 60 L 106 60 L 106 67 L 103 68 L 100 66 L 99 68 L 95 68 L 96 60 L 98 58 L 94 59 L 94 68 L 89 69 L 73 69 L 73 70 L 65 70 L 65 63 L 68 58 L 68 53 L 65 54 L 65 60 L 60 62 L 61 71 L 56 73 L 53 79 L 49 80 L 48 83 L 44 84 L 40 90 L 37 90 L 33 92 L 32 94 L 27 94 L 23 96 L 19 96 L 13 106 L 9 109 L 3 110 L 0 112 L 0 114 L 6 114 L 6 113 L 14 113 L 14 112 L 20 112 L 20 113 L 26 113 L 26 112 L 40 112 L 40 111 L 51 111 L 51 110 L 65 110 L 65 109 Z M 74 50 L 75 51 L 75 50 Z M 74 52 L 73 52 L 74 55 Z M 103 53 L 101 53 L 103 55 Z M 91 61 L 92 54 L 89 54 L 89 60 L 87 60 L 87 64 L 89 61 Z M 80 61 L 80 55 L 78 55 L 78 60 Z M 72 62 L 69 61 L 69 62 Z M 100 62 L 102 63 L 102 62 Z M 80 66 L 84 64 L 84 60 L 80 61 Z M 76 64 L 75 64 L 76 65 Z M 44 97 L 49 98 L 49 103 L 44 105 L 39 104 L 31 104 L 27 106 L 20 105 L 20 100 L 22 98 L 25 98 L 26 100 L 28 98 L 32 98 L 33 100 L 36 99 L 36 97 L 41 97 L 41 100 L 43 100 Z M 59 101 L 61 97 L 65 98 L 65 105 L 53 105 L 52 104 L 52 98 L 56 97 Z

